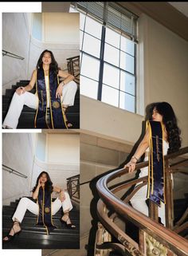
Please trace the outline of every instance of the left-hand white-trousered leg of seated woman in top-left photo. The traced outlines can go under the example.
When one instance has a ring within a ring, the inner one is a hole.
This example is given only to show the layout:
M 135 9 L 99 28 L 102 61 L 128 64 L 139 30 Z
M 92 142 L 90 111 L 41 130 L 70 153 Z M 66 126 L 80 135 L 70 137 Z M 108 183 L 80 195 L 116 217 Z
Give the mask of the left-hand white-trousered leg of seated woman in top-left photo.
M 23 106 L 26 105 L 29 108 L 37 108 L 38 98 L 33 93 L 25 92 L 21 95 L 18 93 L 14 93 L 14 96 L 10 103 L 10 108 L 6 114 L 6 118 L 2 124 L 3 128 L 17 128 L 18 119 L 21 115 Z

